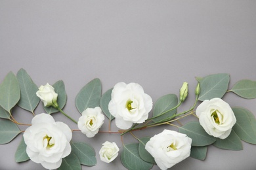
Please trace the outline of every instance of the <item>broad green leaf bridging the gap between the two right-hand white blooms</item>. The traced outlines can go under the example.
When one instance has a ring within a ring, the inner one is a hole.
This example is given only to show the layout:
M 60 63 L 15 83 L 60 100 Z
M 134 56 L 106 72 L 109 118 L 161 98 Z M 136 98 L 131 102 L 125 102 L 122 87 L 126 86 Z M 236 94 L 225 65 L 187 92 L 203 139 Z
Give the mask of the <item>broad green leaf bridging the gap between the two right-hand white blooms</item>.
M 199 122 L 188 122 L 179 127 L 179 132 L 188 135 L 192 139 L 192 146 L 207 146 L 216 141 L 215 137 L 208 135 Z

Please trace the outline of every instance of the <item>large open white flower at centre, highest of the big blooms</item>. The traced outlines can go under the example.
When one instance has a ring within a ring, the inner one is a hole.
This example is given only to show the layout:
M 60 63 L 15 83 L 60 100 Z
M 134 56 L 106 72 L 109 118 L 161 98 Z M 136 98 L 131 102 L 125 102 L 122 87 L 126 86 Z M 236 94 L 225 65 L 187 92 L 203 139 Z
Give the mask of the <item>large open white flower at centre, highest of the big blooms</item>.
M 129 129 L 133 123 L 143 123 L 152 109 L 151 97 L 137 83 L 117 83 L 111 93 L 108 110 L 116 117 L 116 126 Z

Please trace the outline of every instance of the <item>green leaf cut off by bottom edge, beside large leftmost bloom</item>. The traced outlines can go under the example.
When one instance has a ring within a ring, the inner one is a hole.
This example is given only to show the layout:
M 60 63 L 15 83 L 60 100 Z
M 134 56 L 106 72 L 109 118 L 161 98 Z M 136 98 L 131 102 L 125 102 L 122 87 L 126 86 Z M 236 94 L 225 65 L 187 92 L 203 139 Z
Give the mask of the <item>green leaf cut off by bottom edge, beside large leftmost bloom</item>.
M 79 170 L 81 165 L 77 156 L 71 152 L 69 156 L 62 159 L 62 163 L 58 170 Z

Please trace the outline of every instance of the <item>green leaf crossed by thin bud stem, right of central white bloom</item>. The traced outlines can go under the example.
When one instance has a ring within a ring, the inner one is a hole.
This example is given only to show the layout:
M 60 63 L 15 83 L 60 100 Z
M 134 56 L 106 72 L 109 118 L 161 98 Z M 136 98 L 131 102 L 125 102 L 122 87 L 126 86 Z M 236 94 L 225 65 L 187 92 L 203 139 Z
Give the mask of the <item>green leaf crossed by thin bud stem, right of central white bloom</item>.
M 158 116 L 167 110 L 173 109 L 178 104 L 178 97 L 175 94 L 167 94 L 160 97 L 154 106 L 153 116 Z M 163 115 L 154 118 L 154 122 L 159 122 L 165 118 L 173 116 L 177 112 L 177 109 L 173 109 L 169 112 L 164 113 Z

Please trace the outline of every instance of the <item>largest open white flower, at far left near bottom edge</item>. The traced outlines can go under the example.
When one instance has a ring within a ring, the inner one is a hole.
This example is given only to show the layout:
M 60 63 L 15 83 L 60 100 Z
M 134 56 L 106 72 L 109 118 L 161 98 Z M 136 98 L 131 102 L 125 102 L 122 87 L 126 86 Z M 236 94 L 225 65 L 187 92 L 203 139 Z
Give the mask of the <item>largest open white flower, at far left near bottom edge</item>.
M 32 126 L 24 132 L 26 152 L 30 160 L 46 169 L 60 167 L 62 158 L 71 152 L 72 131 L 63 122 L 55 122 L 50 114 L 37 114 Z

